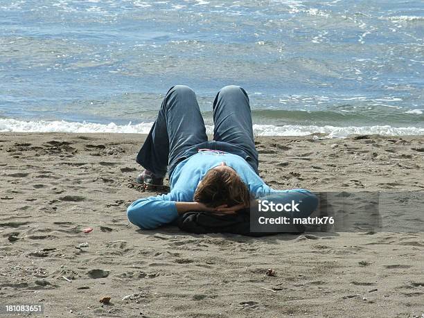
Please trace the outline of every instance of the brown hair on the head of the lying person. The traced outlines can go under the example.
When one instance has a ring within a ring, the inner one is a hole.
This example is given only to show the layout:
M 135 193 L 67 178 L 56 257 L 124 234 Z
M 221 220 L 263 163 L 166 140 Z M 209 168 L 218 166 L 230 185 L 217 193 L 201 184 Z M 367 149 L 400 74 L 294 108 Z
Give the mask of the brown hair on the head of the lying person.
M 204 175 L 194 194 L 195 202 L 215 208 L 222 204 L 249 206 L 249 189 L 236 171 L 232 169 L 211 169 Z

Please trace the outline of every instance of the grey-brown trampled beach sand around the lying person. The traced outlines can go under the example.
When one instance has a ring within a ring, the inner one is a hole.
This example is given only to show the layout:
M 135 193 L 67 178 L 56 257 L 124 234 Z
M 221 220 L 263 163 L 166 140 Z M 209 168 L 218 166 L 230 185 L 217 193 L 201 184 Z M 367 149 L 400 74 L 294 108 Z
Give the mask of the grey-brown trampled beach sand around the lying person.
M 143 139 L 0 134 L 1 304 L 43 303 L 46 317 L 423 314 L 422 231 L 249 238 L 138 230 L 125 209 L 156 194 L 133 182 Z M 424 191 L 423 136 L 260 137 L 257 147 L 260 175 L 277 189 Z

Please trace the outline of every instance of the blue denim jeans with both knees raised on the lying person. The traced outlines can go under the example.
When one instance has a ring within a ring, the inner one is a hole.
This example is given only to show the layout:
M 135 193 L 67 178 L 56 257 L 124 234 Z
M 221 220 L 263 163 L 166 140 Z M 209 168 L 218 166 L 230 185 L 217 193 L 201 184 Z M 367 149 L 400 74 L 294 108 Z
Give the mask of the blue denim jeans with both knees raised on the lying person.
M 171 176 L 179 162 L 198 149 L 222 150 L 237 154 L 258 173 L 249 97 L 238 86 L 222 88 L 213 101 L 213 141 L 206 128 L 193 89 L 171 87 L 136 162 L 157 177 Z

